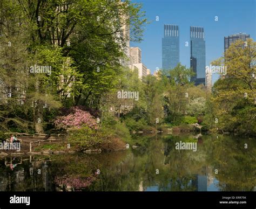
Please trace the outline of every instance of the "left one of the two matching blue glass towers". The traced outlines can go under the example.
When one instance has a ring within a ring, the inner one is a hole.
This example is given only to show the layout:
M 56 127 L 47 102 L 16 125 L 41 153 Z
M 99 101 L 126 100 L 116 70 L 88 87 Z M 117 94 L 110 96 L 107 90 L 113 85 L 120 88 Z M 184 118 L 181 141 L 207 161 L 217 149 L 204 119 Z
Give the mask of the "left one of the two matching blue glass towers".
M 162 67 L 173 69 L 179 63 L 179 26 L 164 25 L 162 38 Z

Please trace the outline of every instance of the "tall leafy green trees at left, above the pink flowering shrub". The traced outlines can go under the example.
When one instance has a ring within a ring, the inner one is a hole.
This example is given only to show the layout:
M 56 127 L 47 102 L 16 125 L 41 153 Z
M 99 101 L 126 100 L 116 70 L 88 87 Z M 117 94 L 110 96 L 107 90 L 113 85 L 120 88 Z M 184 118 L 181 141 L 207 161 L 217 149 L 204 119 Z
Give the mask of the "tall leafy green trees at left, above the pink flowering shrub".
M 130 1 L 3 0 L 0 9 L 2 131 L 43 133 L 56 108 L 106 105 L 127 59 L 128 26 L 139 42 L 147 24 L 142 5 Z M 35 65 L 51 73 L 27 73 Z

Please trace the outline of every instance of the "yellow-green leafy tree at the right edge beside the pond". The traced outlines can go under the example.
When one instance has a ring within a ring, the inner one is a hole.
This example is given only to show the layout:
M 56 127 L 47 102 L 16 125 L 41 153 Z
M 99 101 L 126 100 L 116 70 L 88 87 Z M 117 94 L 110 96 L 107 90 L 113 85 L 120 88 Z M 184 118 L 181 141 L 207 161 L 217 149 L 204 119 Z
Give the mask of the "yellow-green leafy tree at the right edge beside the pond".
M 214 63 L 227 66 L 225 79 L 214 83 L 213 96 L 206 102 L 205 123 L 211 129 L 256 135 L 255 108 L 255 54 L 252 39 L 248 47 L 237 41 Z M 214 120 L 218 119 L 218 123 Z

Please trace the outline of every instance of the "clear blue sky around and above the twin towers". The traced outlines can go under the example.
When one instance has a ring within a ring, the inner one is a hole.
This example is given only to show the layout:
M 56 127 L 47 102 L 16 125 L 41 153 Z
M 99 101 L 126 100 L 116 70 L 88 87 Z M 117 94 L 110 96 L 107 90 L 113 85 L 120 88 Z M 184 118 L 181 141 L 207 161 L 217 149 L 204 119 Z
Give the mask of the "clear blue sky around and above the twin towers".
M 146 25 L 142 43 L 131 43 L 142 50 L 142 62 L 154 72 L 161 68 L 161 38 L 164 24 L 177 24 L 180 30 L 180 62 L 190 67 L 190 26 L 202 26 L 205 31 L 206 65 L 224 52 L 224 36 L 244 32 L 255 40 L 255 0 L 132 0 L 142 3 Z M 156 21 L 159 16 L 159 21 Z M 218 21 L 215 21 L 218 16 Z M 218 74 L 213 75 L 213 81 Z

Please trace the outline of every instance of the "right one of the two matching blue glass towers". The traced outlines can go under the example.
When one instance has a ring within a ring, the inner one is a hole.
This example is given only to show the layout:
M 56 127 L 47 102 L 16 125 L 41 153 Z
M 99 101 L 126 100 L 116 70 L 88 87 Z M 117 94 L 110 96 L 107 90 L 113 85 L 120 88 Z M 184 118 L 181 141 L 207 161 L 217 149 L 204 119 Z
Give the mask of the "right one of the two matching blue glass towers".
M 195 73 L 191 81 L 205 85 L 205 40 L 204 28 L 190 26 L 190 67 Z

